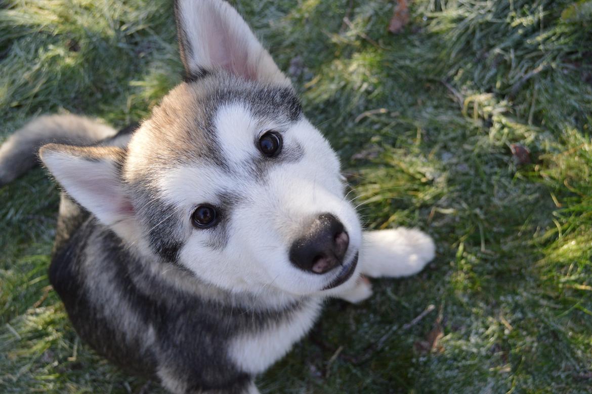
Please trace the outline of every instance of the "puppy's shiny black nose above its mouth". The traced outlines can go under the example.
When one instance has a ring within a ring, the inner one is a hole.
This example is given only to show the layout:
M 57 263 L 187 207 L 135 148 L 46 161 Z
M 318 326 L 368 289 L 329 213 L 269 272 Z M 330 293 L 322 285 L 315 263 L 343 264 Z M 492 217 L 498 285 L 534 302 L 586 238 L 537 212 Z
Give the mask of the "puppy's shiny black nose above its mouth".
M 332 214 L 323 213 L 304 236 L 294 241 L 289 258 L 304 271 L 324 274 L 342 264 L 348 245 L 349 236 L 342 223 Z

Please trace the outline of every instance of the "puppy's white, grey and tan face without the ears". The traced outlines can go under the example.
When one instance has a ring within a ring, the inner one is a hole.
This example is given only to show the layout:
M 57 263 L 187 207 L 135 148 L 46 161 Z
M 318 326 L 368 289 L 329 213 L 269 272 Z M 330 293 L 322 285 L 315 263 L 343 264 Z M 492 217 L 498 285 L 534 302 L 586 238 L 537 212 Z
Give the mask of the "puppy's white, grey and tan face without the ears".
M 150 247 L 203 280 L 309 294 L 355 268 L 361 230 L 339 161 L 291 89 L 204 76 L 170 92 L 128 150 L 126 177 L 141 196 L 134 211 Z M 336 228 L 320 223 L 311 235 L 323 215 Z M 345 233 L 345 250 L 321 245 L 291 257 L 299 240 L 327 232 Z M 314 270 L 330 254 L 340 254 L 332 267 Z

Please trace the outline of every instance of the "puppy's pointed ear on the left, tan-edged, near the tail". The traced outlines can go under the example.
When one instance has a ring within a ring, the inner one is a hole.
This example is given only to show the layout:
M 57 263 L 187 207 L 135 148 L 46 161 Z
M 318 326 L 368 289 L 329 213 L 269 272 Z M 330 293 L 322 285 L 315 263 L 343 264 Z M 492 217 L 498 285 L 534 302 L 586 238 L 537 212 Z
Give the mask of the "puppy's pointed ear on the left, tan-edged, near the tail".
M 104 225 L 133 219 L 133 206 L 120 180 L 123 149 L 50 143 L 39 155 L 70 197 Z

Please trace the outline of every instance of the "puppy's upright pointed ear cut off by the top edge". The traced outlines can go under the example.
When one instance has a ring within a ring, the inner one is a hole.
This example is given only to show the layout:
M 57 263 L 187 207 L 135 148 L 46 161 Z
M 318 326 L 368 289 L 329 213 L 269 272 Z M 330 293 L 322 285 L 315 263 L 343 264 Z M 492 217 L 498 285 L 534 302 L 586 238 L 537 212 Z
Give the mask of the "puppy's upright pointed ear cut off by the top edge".
M 242 17 L 226 1 L 175 0 L 181 60 L 189 79 L 223 68 L 243 78 L 291 86 Z

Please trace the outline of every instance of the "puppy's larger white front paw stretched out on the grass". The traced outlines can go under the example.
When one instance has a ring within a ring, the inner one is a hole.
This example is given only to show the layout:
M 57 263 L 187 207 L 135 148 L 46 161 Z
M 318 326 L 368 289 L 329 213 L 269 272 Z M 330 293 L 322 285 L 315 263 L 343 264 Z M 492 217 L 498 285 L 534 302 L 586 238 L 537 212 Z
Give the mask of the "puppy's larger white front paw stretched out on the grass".
M 417 229 L 366 231 L 361 271 L 370 277 L 410 276 L 423 270 L 435 253 L 432 237 Z

